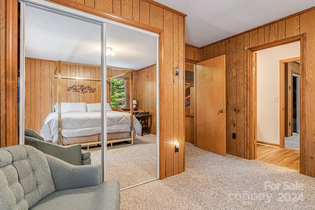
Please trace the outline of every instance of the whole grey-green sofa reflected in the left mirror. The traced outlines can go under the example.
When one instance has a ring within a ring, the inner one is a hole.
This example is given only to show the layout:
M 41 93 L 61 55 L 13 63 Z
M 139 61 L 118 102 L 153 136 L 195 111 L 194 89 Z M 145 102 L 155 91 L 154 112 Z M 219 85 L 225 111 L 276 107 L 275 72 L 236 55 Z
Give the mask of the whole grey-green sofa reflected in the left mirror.
M 61 146 L 52 143 L 52 140 L 44 140 L 33 130 L 25 129 L 25 145 L 31 145 L 51 156 L 57 157 L 72 165 L 91 165 L 91 153 L 81 149 L 80 144 Z

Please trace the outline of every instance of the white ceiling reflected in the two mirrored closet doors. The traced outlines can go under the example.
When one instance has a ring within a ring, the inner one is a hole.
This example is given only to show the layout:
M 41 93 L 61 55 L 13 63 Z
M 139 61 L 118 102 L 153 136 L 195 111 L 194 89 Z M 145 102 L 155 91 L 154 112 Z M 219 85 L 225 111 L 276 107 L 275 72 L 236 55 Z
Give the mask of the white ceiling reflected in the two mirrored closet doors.
M 107 25 L 106 45 L 116 55 L 107 65 L 140 69 L 156 63 L 156 38 Z M 87 64 L 101 62 L 101 27 L 52 12 L 26 7 L 26 57 Z

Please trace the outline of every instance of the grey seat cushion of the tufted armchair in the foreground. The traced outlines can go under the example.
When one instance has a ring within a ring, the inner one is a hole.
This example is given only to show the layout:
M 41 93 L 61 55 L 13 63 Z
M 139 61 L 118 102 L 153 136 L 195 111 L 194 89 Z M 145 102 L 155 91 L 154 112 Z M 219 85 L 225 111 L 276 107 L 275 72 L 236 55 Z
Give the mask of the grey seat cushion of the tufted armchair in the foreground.
M 39 201 L 32 210 L 119 210 L 120 184 L 117 180 L 100 185 L 54 192 Z

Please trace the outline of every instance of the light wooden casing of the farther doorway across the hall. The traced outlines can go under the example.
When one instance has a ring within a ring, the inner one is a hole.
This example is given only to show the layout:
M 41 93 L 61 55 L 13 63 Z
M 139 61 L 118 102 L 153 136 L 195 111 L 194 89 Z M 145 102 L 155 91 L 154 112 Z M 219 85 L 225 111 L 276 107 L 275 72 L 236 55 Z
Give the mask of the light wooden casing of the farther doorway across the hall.
M 280 94 L 279 94 L 279 111 L 280 111 L 280 136 L 279 136 L 279 147 L 284 148 L 284 123 L 285 123 L 285 115 L 284 115 L 284 63 L 294 62 L 300 60 L 300 57 L 285 59 L 279 61 L 279 69 L 280 69 Z

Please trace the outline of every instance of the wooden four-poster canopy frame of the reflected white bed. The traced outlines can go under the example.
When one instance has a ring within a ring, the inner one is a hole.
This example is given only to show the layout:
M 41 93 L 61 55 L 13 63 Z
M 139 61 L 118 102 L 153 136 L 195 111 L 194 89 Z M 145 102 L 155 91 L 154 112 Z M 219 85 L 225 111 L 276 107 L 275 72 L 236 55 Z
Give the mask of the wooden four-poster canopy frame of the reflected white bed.
M 101 81 L 101 79 L 98 79 L 98 78 L 83 78 L 83 77 L 69 77 L 69 76 L 62 76 L 61 72 L 62 72 L 62 64 L 63 63 L 69 63 L 69 62 L 65 62 L 65 61 L 61 61 L 59 60 L 58 61 L 58 65 L 55 69 L 55 72 L 54 74 L 52 75 L 52 84 L 54 84 L 54 79 L 58 79 L 56 85 L 57 85 L 57 98 L 58 98 L 58 145 L 62 145 L 63 144 L 63 136 L 62 136 L 62 112 L 61 112 L 61 101 L 62 101 L 62 97 L 61 97 L 61 87 L 62 87 L 62 79 L 73 79 L 73 80 L 89 80 L 89 81 Z M 95 65 L 95 67 L 100 67 L 100 66 L 97 66 Z M 119 69 L 120 70 L 120 69 Z M 129 86 L 130 86 L 130 98 L 132 98 L 132 69 L 130 70 L 124 70 L 122 71 L 121 73 L 119 73 L 118 75 L 114 75 L 114 76 L 110 76 L 108 78 L 106 78 L 106 81 L 107 80 L 110 80 L 110 79 L 113 79 L 113 78 L 116 78 L 116 77 L 119 77 L 119 76 L 122 76 L 126 73 L 129 73 L 130 72 L 130 78 L 129 78 Z M 54 85 L 52 85 L 52 91 L 51 91 L 51 94 L 52 94 L 52 106 L 54 105 L 54 90 L 55 90 L 55 87 Z M 119 111 L 119 110 L 118 110 Z M 130 100 L 130 113 L 133 113 L 133 104 L 132 104 L 132 100 Z M 130 115 L 130 131 L 133 131 L 133 115 L 131 114 Z M 128 138 L 121 138 L 121 139 L 112 139 L 112 140 L 107 140 L 107 145 L 109 144 L 110 145 L 110 148 L 112 147 L 121 147 L 121 146 L 126 146 L 126 145 L 133 145 L 133 140 L 134 140 L 134 134 L 133 132 L 128 132 L 130 133 L 130 137 Z M 98 136 L 101 136 L 101 134 L 96 134 Z M 96 136 L 95 135 L 95 136 Z M 89 137 L 74 137 L 78 140 L 83 140 L 84 142 L 84 139 L 86 138 L 89 138 Z M 96 140 L 96 139 L 95 139 Z M 129 144 L 124 144 L 124 145 L 113 145 L 115 143 L 119 143 L 119 142 L 129 142 Z M 81 142 L 81 141 L 80 141 Z M 95 145 L 101 145 L 101 137 L 97 139 L 97 141 L 91 141 L 91 142 L 85 142 L 85 143 L 79 143 L 81 144 L 82 147 L 87 147 L 87 149 L 89 150 L 90 149 L 90 146 L 95 146 Z M 75 143 L 74 143 L 75 144 Z

